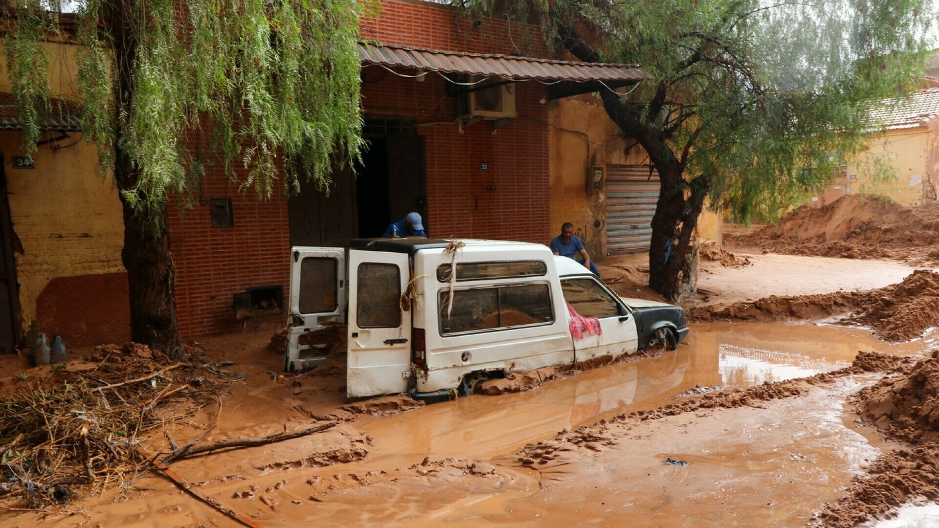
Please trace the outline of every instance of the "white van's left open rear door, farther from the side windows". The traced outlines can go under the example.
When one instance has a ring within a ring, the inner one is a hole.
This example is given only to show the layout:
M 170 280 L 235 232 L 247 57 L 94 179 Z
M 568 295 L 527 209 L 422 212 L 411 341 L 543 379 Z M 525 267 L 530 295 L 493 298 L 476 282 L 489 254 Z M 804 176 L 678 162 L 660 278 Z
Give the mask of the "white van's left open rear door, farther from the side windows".
M 287 319 L 285 370 L 301 370 L 326 359 L 339 340 L 346 313 L 345 251 L 335 247 L 294 247 L 290 266 L 290 310 Z

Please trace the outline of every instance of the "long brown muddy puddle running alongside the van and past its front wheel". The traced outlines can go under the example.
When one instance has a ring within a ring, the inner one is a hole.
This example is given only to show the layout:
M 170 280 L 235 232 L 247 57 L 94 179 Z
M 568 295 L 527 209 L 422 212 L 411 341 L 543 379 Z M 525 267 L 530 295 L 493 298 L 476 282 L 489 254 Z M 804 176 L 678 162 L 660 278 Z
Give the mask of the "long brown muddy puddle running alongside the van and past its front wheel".
M 696 324 L 687 344 L 661 357 L 608 365 L 527 393 L 438 403 L 364 430 L 376 439 L 373 461 L 492 457 L 564 428 L 660 407 L 699 386 L 804 378 L 849 365 L 858 350 L 907 354 L 923 347 L 887 345 L 864 330 L 831 326 Z

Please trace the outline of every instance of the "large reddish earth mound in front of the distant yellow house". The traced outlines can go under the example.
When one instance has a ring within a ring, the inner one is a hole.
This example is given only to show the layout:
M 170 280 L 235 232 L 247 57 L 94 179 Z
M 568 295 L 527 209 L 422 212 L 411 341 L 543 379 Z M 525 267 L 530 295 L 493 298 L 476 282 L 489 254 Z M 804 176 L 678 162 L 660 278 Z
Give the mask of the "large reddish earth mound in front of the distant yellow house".
M 733 247 L 801 256 L 939 260 L 939 203 L 907 208 L 881 197 L 849 194 L 821 208 L 803 206 L 777 225 L 727 234 Z

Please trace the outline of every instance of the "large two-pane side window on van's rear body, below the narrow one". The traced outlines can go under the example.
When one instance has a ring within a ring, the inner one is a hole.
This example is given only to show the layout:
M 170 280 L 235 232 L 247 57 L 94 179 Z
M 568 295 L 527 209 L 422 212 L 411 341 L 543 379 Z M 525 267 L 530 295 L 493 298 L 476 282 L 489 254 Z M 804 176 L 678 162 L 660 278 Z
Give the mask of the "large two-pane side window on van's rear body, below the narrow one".
M 546 284 L 456 289 L 453 295 L 448 316 L 450 290 L 442 289 L 439 294 L 441 335 L 554 322 Z

